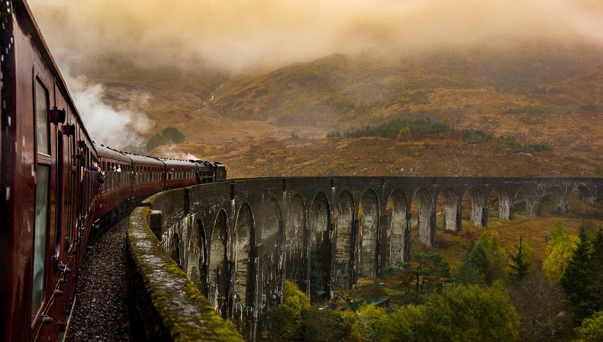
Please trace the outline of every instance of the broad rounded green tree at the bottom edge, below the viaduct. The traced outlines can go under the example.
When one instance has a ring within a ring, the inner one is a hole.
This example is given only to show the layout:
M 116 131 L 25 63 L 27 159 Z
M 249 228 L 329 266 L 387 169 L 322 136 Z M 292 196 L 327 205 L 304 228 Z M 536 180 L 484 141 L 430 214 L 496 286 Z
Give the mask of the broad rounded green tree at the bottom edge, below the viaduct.
M 518 341 L 519 320 L 502 285 L 447 287 L 429 297 L 419 341 Z

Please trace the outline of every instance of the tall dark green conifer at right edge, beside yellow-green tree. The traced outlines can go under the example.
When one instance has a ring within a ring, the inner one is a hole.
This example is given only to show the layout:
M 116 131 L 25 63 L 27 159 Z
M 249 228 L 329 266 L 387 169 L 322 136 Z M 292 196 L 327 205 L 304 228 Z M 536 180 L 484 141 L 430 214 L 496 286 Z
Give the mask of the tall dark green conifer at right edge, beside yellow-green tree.
M 587 234 L 580 227 L 580 243 L 561 276 L 578 323 L 603 310 L 603 232 Z

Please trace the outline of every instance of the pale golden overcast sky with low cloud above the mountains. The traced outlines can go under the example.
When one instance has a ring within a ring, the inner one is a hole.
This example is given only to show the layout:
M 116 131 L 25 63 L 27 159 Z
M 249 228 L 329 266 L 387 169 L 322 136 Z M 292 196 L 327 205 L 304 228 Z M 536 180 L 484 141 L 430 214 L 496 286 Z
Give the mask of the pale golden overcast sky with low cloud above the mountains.
M 334 52 L 387 56 L 535 39 L 603 46 L 601 0 L 28 3 L 59 66 L 117 54 L 141 65 L 203 60 L 239 72 Z

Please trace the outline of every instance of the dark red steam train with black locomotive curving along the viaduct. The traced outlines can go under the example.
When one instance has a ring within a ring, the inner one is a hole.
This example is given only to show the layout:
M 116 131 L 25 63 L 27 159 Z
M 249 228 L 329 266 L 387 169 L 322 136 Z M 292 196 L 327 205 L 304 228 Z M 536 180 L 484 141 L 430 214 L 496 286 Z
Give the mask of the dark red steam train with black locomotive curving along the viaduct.
M 90 232 L 153 192 L 226 170 L 95 144 L 28 4 L 0 1 L 0 24 L 0 339 L 60 341 Z

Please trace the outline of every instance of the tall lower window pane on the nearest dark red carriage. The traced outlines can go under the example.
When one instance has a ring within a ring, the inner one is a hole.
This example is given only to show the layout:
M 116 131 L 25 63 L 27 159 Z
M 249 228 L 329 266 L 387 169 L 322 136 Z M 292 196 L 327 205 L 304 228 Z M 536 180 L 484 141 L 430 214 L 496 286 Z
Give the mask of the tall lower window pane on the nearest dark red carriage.
M 34 272 L 32 275 L 32 321 L 44 302 L 46 230 L 48 229 L 48 190 L 50 165 L 38 165 L 36 186 L 36 223 L 34 227 Z

